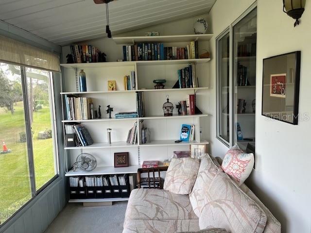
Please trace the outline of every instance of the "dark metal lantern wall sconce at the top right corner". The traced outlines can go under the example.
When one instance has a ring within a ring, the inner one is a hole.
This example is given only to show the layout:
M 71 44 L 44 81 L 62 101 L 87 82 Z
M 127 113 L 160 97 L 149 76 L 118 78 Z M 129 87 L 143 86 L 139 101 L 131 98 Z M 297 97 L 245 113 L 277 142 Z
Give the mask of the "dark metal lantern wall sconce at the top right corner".
M 283 0 L 283 11 L 290 17 L 296 19 L 294 27 L 299 25 L 299 18 L 305 11 L 306 0 Z M 285 9 L 285 10 L 284 10 Z

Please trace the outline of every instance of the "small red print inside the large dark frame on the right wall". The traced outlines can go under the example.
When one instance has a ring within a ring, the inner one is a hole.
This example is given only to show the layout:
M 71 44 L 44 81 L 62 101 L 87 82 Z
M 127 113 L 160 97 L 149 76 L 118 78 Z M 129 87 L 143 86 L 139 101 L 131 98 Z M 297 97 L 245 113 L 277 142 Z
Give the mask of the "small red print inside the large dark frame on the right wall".
M 286 74 L 272 74 L 270 78 L 270 96 L 286 97 Z

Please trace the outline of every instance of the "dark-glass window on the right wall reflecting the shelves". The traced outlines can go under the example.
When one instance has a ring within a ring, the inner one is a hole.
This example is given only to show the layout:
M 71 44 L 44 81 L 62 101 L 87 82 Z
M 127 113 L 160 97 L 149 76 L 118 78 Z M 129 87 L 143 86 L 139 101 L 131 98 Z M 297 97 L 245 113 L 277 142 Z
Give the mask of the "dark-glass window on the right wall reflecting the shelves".
M 216 39 L 217 138 L 251 152 L 255 152 L 256 41 L 256 5 Z

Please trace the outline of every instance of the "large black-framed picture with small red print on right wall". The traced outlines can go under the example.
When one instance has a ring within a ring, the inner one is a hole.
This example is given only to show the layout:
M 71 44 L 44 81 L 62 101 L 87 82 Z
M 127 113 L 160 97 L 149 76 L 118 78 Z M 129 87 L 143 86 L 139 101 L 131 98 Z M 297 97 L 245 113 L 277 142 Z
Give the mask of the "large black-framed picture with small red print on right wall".
M 298 124 L 300 51 L 263 59 L 261 115 Z

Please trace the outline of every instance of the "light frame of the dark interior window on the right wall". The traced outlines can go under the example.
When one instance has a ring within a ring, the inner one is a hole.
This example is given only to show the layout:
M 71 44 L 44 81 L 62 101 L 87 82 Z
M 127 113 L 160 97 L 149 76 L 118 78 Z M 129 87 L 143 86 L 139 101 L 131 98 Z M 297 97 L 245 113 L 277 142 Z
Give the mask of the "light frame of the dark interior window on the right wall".
M 238 24 L 244 17 L 246 17 L 251 11 L 253 11 L 255 8 L 257 8 L 257 1 L 255 1 L 249 8 L 247 8 L 237 19 L 235 19 L 222 33 L 220 33 L 216 37 L 216 138 L 220 140 L 222 143 L 224 143 L 228 148 L 233 147 L 234 145 L 234 47 L 233 47 L 233 27 Z M 257 25 L 258 25 L 258 16 L 257 16 Z M 258 26 L 257 26 L 258 28 Z M 225 141 L 224 138 L 219 136 L 219 129 L 220 129 L 220 116 L 219 116 L 219 110 L 220 110 L 220 100 L 219 100 L 219 94 L 220 94 L 220 50 L 219 50 L 219 41 L 227 34 L 229 33 L 229 142 Z M 256 116 L 255 116 L 256 117 Z M 256 118 L 255 118 L 256 122 Z M 256 124 L 255 124 L 255 135 L 256 135 Z M 256 141 L 255 141 L 256 143 Z M 256 145 L 256 144 L 255 144 Z

